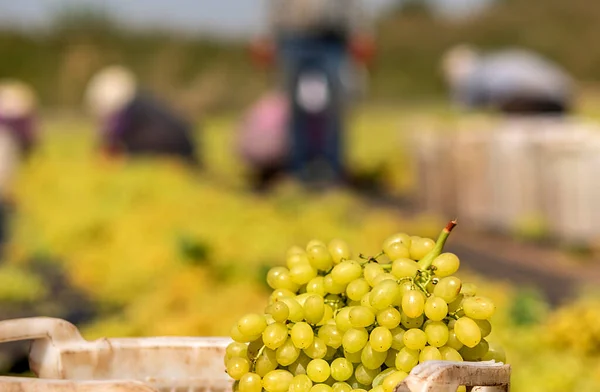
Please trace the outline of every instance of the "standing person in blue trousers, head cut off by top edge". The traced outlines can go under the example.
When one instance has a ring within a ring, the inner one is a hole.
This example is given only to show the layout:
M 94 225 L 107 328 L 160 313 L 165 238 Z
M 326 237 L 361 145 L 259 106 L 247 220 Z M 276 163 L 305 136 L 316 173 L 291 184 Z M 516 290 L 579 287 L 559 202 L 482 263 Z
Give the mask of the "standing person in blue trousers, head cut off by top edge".
M 358 0 L 271 0 L 269 33 L 255 59 L 276 64 L 290 105 L 289 168 L 303 180 L 341 180 L 349 70 L 373 56 Z

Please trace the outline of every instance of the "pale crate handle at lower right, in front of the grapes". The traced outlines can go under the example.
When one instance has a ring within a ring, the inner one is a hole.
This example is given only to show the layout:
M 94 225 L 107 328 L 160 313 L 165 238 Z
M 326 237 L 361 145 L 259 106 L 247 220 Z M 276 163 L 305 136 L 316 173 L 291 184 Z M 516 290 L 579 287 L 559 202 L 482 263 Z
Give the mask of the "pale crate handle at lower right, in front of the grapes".
M 415 367 L 394 392 L 456 392 L 459 385 L 508 392 L 510 365 L 494 361 L 427 361 Z

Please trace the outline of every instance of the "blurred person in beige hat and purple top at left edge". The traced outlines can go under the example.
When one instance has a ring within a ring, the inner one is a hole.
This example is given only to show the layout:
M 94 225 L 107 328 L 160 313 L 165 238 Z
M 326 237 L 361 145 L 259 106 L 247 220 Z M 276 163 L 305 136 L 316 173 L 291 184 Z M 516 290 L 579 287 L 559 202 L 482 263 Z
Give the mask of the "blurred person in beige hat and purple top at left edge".
M 17 80 L 0 81 L 0 251 L 8 237 L 14 206 L 12 182 L 37 139 L 36 108 L 31 87 Z

